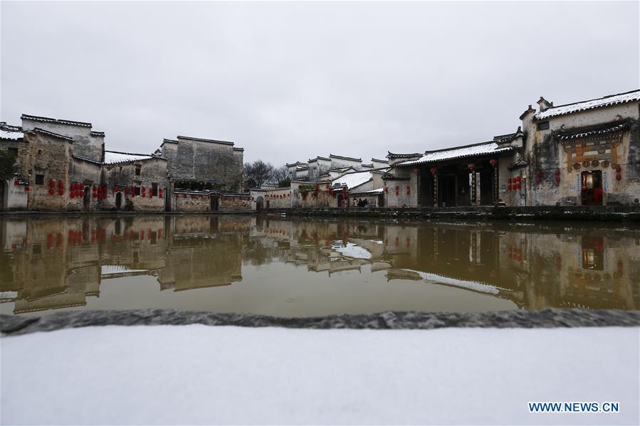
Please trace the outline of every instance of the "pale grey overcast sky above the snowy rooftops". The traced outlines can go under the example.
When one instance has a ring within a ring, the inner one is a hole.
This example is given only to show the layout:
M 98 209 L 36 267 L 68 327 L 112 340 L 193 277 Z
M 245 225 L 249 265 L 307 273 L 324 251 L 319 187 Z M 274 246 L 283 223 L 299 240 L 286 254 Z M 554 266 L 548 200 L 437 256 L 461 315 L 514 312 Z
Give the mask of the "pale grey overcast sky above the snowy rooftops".
M 92 122 L 107 149 L 178 134 L 245 161 L 368 161 L 514 132 L 640 87 L 639 3 L 0 3 L 0 119 Z

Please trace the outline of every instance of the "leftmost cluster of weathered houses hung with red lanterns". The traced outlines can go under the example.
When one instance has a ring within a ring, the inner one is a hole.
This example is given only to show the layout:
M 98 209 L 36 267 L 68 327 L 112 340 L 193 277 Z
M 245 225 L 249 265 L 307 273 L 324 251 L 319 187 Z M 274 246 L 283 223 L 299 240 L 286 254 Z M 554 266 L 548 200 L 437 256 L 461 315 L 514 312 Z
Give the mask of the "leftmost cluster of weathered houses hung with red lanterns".
M 166 159 L 106 151 L 105 134 L 91 123 L 21 119 L 0 125 L 0 149 L 16 154 L 17 169 L 1 183 L 2 210 L 164 211 Z

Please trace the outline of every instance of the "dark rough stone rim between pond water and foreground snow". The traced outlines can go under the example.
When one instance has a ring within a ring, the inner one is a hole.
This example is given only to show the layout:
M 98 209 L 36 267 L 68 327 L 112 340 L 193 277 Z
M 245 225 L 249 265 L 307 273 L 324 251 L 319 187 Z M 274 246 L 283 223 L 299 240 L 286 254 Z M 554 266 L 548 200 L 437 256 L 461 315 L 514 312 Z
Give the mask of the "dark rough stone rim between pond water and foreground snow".
M 0 315 L 2 336 L 55 331 L 86 326 L 189 325 L 285 327 L 292 329 L 441 329 L 458 328 L 557 328 L 640 326 L 640 311 L 614 309 L 541 309 L 539 311 L 490 312 L 380 312 L 302 318 L 256 314 L 140 309 L 125 311 L 57 312 L 43 316 Z

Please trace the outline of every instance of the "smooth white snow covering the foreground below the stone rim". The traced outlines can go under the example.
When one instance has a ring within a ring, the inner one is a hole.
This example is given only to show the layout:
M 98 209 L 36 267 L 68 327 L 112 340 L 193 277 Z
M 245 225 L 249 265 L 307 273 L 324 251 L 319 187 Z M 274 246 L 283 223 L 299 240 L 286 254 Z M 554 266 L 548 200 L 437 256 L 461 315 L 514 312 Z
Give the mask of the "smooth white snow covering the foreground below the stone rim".
M 638 424 L 639 328 L 105 326 L 1 345 L 9 424 Z M 528 401 L 618 401 L 531 414 Z

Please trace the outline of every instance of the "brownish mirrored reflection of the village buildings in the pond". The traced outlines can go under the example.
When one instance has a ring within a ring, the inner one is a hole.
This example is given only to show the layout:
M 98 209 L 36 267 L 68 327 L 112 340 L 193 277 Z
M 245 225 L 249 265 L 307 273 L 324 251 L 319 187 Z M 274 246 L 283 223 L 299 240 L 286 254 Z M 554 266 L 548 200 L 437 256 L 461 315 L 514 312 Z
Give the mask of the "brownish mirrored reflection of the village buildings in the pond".
M 525 309 L 640 307 L 638 231 L 500 226 L 202 215 L 2 219 L 0 301 L 13 302 L 16 313 L 90 306 L 109 279 L 147 275 L 160 289 L 182 291 L 241 281 L 243 265 L 290 262 L 304 273 L 382 274 Z

